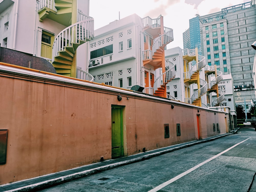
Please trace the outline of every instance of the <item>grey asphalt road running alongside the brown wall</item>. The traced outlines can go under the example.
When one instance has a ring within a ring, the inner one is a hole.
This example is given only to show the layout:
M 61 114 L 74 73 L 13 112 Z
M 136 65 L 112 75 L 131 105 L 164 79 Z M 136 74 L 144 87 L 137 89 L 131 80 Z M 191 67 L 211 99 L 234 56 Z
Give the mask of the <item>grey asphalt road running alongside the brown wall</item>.
M 256 131 L 242 128 L 238 134 L 40 191 L 252 192 L 256 191 L 255 173 Z

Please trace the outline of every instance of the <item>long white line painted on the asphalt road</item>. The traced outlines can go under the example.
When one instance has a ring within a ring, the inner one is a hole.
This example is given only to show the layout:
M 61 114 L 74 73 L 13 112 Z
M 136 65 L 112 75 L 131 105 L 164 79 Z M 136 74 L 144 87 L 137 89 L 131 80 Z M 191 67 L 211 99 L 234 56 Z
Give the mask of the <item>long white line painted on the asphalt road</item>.
M 250 138 L 250 137 L 249 137 L 249 138 Z M 176 177 L 174 177 L 174 178 L 172 178 L 172 179 L 170 179 L 170 180 L 168 180 L 168 181 L 162 183 L 161 185 L 158 185 L 157 187 L 155 187 L 154 189 L 151 189 L 151 190 L 148 191 L 148 192 L 156 192 L 156 191 L 159 191 L 160 189 L 166 187 L 167 185 L 169 185 L 169 184 L 175 182 L 175 181 L 178 180 L 179 178 L 181 178 L 181 177 L 183 177 L 183 176 L 189 174 L 190 172 L 194 171 L 195 169 L 201 167 L 202 165 L 204 165 L 204 164 L 210 162 L 211 160 L 215 159 L 216 157 L 222 155 L 223 153 L 226 153 L 227 151 L 231 150 L 232 148 L 236 147 L 237 145 L 239 145 L 239 144 L 241 144 L 241 143 L 247 141 L 249 138 L 247 138 L 246 140 L 241 141 L 240 143 L 237 143 L 237 144 L 233 145 L 232 147 L 229 147 L 229 148 L 226 149 L 225 151 L 222 151 L 221 153 L 219 153 L 219 154 L 217 154 L 217 155 L 215 155 L 215 156 L 213 156 L 213 157 L 207 159 L 206 161 L 204 161 L 204 162 L 202 162 L 202 163 L 196 165 L 195 167 L 192 167 L 191 169 L 188 169 L 187 171 L 185 171 L 185 172 L 183 172 L 183 173 L 177 175 Z

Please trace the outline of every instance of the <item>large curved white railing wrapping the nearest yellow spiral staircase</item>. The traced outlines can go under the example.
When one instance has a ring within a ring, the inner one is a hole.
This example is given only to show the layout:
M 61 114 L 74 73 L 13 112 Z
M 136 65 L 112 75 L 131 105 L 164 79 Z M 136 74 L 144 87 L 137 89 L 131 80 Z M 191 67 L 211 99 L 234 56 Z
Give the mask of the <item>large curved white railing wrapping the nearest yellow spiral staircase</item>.
M 79 21 L 63 29 L 55 38 L 52 46 L 52 59 L 59 55 L 66 46 L 72 46 L 79 40 L 94 38 L 94 19 Z

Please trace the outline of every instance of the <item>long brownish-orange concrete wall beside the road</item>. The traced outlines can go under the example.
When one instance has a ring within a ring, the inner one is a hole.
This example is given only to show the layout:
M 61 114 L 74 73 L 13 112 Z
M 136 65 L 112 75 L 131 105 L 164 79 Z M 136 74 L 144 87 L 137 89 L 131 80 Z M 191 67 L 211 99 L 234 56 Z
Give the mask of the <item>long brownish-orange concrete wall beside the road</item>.
M 197 114 L 203 138 L 219 134 L 213 132 L 212 123 L 220 124 L 220 133 L 226 132 L 223 112 L 215 115 L 202 108 L 198 112 L 192 105 L 129 91 L 1 71 L 0 85 L 0 129 L 8 129 L 0 184 L 99 162 L 101 157 L 111 159 L 111 105 L 124 106 L 125 155 L 195 140 Z M 164 138 L 165 123 L 169 138 Z M 176 123 L 181 136 L 176 136 Z

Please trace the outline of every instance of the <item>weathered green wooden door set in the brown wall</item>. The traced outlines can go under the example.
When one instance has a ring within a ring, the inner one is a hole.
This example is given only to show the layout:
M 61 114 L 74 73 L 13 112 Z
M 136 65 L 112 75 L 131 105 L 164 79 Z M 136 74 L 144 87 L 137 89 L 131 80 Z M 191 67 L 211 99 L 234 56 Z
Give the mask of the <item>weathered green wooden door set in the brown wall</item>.
M 111 108 L 112 119 L 112 158 L 124 155 L 122 108 Z

